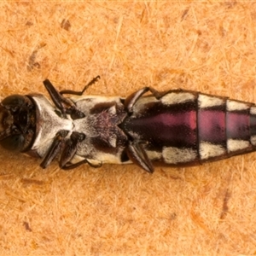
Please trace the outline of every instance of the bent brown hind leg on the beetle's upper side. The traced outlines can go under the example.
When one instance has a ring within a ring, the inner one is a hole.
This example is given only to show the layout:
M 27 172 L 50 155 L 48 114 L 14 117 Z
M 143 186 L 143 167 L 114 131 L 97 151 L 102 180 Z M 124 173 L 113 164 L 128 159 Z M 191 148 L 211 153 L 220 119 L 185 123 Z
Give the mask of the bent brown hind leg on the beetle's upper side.
M 162 94 L 158 90 L 154 90 L 152 87 L 144 87 L 141 90 L 137 90 L 136 92 L 132 93 L 130 96 L 125 98 L 125 108 L 128 110 L 129 113 L 132 113 L 133 106 L 135 103 L 145 94 L 148 90 L 157 98 L 160 99 Z

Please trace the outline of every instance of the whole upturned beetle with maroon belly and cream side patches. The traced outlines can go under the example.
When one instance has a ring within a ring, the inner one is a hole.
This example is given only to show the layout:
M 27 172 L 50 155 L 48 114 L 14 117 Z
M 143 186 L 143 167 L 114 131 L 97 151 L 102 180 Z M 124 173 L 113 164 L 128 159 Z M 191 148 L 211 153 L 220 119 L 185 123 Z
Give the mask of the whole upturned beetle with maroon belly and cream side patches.
M 256 106 L 190 90 L 151 87 L 126 98 L 55 89 L 12 95 L 0 106 L 0 145 L 68 170 L 84 163 L 193 166 L 255 151 Z M 146 93 L 149 94 L 146 94 Z M 71 97 L 64 95 L 70 94 Z

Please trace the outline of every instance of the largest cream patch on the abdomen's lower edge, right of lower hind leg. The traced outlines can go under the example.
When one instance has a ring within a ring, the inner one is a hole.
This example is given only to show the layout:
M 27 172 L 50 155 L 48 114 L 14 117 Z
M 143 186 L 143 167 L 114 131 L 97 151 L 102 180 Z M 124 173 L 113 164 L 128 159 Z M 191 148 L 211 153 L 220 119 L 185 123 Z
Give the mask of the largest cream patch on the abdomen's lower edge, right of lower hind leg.
M 187 163 L 195 160 L 197 157 L 196 150 L 191 148 L 163 148 L 163 158 L 166 164 Z

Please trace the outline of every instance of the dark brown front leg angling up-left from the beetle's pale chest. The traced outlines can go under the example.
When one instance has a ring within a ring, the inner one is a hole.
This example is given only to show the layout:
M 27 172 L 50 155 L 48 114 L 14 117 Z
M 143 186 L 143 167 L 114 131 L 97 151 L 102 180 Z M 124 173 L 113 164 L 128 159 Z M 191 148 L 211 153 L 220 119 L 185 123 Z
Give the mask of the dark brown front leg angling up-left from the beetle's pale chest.
M 67 117 L 67 114 L 70 114 L 72 119 L 84 118 L 84 113 L 79 111 L 72 101 L 62 96 L 61 93 L 55 89 L 54 85 L 49 82 L 49 79 L 44 80 L 44 86 L 46 90 L 48 90 L 49 96 L 55 103 L 56 108 L 61 110 L 64 117 Z

